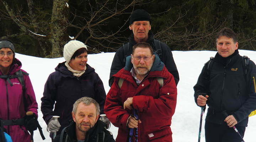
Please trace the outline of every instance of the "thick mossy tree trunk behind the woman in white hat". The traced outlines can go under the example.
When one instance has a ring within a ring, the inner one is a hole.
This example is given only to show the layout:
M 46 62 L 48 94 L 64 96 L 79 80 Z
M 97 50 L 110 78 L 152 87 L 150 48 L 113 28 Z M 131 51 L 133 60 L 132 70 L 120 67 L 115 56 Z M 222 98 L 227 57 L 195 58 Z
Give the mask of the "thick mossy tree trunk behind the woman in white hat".
M 63 47 L 70 40 L 67 32 L 69 17 L 68 0 L 54 0 L 51 20 L 52 52 L 50 58 L 63 57 Z

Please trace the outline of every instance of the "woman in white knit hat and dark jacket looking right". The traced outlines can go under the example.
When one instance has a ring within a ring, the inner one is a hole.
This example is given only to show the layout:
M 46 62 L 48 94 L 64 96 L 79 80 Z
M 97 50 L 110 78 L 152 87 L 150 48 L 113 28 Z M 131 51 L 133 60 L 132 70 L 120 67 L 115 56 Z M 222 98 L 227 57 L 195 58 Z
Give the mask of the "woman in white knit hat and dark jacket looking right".
M 63 128 L 69 126 L 76 100 L 85 96 L 95 99 L 100 105 L 100 114 L 103 113 L 106 100 L 100 77 L 94 68 L 86 64 L 86 45 L 80 41 L 71 40 L 64 46 L 63 55 L 66 61 L 59 63 L 55 72 L 49 75 L 41 98 L 43 119 L 48 130 L 57 131 L 57 135 Z M 60 117 L 58 122 L 54 121 L 53 116 Z M 110 123 L 108 119 L 106 122 Z M 53 133 L 50 133 L 50 137 L 53 138 Z

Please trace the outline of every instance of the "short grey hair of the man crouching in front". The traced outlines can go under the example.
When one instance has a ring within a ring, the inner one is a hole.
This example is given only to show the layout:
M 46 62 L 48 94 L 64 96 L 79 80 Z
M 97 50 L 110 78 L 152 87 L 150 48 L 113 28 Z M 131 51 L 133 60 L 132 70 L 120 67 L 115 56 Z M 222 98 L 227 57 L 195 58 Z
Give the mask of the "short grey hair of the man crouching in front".
M 91 103 L 93 103 L 96 107 L 96 114 L 100 114 L 100 105 L 91 97 L 81 97 L 80 99 L 76 100 L 76 102 L 73 105 L 73 113 L 76 114 L 77 107 L 79 103 L 82 102 L 84 105 L 89 106 Z

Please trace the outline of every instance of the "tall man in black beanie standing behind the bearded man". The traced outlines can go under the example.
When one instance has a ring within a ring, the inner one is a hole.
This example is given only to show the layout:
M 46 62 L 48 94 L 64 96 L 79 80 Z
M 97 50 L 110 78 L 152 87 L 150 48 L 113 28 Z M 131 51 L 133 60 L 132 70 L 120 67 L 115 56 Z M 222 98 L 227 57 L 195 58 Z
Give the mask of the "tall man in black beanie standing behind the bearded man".
M 130 16 L 129 29 L 133 31 L 129 36 L 130 42 L 120 47 L 114 55 L 110 69 L 110 79 L 108 81 L 109 86 L 111 87 L 114 82 L 113 75 L 125 66 L 125 58 L 132 54 L 132 47 L 139 42 L 150 44 L 154 52 L 159 55 L 161 61 L 165 64 L 167 70 L 174 76 L 177 85 L 180 78 L 172 57 L 171 49 L 165 43 L 154 40 L 154 34 L 149 33 L 149 30 L 151 30 L 151 18 L 149 13 L 142 9 L 133 11 Z

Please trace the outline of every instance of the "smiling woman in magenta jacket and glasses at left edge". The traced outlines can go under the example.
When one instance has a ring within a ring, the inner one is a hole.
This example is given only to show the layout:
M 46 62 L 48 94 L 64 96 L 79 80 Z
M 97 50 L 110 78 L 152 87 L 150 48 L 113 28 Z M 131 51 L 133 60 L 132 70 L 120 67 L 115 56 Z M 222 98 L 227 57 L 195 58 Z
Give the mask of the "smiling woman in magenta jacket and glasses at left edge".
M 31 142 L 28 130 L 37 128 L 38 107 L 28 73 L 21 70 L 21 62 L 15 58 L 14 51 L 12 42 L 0 41 L 0 125 L 13 142 Z M 20 70 L 23 77 L 19 78 L 24 81 L 19 81 L 15 74 Z

